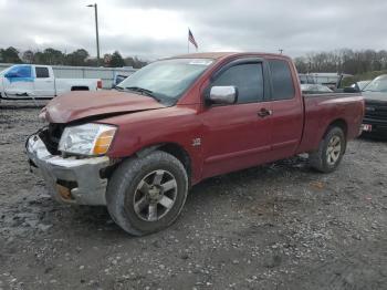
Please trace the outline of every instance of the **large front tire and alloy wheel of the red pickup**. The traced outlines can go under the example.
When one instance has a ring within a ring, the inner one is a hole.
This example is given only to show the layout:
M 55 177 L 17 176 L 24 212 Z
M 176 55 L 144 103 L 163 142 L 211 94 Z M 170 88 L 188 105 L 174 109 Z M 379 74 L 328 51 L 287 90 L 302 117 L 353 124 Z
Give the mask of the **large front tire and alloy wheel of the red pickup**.
M 126 232 L 143 236 L 170 226 L 187 198 L 188 176 L 172 155 L 154 151 L 124 160 L 107 184 L 106 204 Z

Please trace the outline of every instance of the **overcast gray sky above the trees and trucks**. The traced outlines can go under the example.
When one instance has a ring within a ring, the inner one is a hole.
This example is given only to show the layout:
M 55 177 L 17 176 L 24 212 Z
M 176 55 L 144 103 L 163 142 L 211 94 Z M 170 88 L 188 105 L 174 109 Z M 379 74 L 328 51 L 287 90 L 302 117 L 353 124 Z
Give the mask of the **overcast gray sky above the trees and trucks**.
M 94 0 L 95 1 L 95 0 Z M 0 0 L 0 48 L 79 48 L 95 55 L 94 10 L 84 0 Z M 386 0 L 98 0 L 102 54 L 156 59 L 199 51 L 387 49 Z M 195 50 L 194 46 L 190 48 Z

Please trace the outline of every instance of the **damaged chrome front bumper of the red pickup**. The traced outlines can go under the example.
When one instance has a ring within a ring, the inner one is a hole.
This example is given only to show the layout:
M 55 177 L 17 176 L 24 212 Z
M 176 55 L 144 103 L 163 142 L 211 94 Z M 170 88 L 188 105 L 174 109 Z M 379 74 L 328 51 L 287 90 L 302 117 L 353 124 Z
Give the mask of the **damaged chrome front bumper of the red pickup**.
M 38 135 L 30 136 L 25 147 L 54 199 L 65 204 L 106 205 L 107 179 L 101 177 L 101 170 L 111 165 L 107 156 L 77 159 L 51 155 Z

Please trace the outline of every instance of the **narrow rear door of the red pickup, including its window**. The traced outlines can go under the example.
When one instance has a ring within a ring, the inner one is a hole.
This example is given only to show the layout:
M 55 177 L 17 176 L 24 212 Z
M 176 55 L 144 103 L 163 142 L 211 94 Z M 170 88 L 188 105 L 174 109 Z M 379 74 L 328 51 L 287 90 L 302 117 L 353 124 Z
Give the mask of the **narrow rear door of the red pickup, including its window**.
M 270 59 L 271 106 L 272 106 L 272 149 L 275 158 L 295 154 L 303 128 L 302 96 L 294 86 L 296 73 L 283 59 Z

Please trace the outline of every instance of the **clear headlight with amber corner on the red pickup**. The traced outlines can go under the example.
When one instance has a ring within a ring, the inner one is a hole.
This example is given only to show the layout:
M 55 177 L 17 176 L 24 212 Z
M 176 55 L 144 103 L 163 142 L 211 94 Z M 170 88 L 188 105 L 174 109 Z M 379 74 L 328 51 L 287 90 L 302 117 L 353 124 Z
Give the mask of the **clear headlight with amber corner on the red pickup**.
M 105 154 L 116 130 L 115 126 L 96 123 L 65 127 L 59 143 L 59 151 L 88 156 Z

